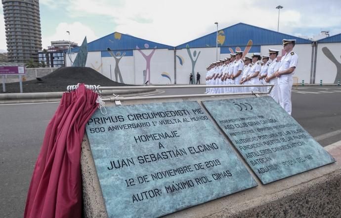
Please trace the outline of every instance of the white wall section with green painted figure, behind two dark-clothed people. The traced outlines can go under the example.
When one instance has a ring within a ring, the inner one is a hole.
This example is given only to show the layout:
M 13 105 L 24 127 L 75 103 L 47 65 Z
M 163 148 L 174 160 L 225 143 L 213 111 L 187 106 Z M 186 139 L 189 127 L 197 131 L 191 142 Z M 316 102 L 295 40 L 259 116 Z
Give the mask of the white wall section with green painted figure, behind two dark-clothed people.
M 194 73 L 197 74 L 199 72 L 201 74 L 201 83 L 205 83 L 206 77 L 206 67 L 215 61 L 216 58 L 216 48 L 190 48 L 190 52 L 194 54 L 196 51 L 196 57 L 200 52 L 198 60 L 195 64 Z M 218 55 L 220 54 L 220 48 L 218 48 Z M 179 55 L 183 58 L 183 65 L 180 65 L 178 58 L 176 58 L 176 84 L 188 84 L 189 83 L 189 74 L 192 72 L 192 62 L 188 55 L 186 48 L 176 50 L 176 55 Z M 193 57 L 195 60 L 196 57 Z M 219 57 L 219 56 L 218 56 Z M 195 79 L 193 79 L 195 81 Z

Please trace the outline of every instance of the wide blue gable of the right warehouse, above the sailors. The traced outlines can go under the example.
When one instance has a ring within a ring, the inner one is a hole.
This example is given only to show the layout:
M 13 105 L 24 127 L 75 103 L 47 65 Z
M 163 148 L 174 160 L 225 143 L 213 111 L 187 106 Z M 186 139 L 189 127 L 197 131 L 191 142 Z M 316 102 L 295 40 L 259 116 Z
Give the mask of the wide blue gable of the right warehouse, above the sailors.
M 250 39 L 255 46 L 277 45 L 282 44 L 283 38 L 296 39 L 296 44 L 311 43 L 310 40 L 305 38 L 291 36 L 249 24 L 238 23 L 218 31 L 218 46 L 245 46 Z M 180 44 L 176 46 L 176 49 L 186 48 L 187 45 L 190 48 L 215 47 L 215 40 L 216 32 L 213 32 L 206 36 Z

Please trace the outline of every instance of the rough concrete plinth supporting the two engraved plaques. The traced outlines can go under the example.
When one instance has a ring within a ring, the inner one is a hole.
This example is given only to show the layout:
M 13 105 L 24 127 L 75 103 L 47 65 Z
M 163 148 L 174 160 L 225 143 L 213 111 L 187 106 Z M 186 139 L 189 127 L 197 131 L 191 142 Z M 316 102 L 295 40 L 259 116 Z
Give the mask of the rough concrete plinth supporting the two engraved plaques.
M 337 162 L 266 185 L 261 184 L 245 163 L 258 183 L 257 187 L 166 217 L 340 217 L 341 143 L 325 149 Z M 104 199 L 86 134 L 82 143 L 81 165 L 85 217 L 106 218 Z

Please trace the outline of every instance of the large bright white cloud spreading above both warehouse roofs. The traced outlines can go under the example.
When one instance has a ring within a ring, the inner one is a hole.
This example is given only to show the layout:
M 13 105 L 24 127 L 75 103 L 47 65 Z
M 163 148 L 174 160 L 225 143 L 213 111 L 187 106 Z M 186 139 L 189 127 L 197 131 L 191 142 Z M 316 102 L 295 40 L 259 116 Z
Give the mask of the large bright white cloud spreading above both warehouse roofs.
M 214 32 L 216 21 L 219 29 L 243 22 L 277 31 L 278 10 L 275 6 L 278 4 L 266 5 L 258 6 L 251 0 L 72 0 L 66 10 L 74 17 L 104 16 L 115 23 L 115 31 L 178 45 Z M 294 33 L 296 27 L 305 25 L 302 20 L 309 24 L 303 14 L 304 10 L 285 5 L 281 11 L 280 32 Z

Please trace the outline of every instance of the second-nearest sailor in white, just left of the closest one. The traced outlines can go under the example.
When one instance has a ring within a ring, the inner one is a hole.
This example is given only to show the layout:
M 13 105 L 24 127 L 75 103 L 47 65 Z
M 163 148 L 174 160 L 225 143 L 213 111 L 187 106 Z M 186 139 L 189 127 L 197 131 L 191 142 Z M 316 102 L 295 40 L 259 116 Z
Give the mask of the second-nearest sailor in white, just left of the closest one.
M 271 92 L 269 93 L 269 96 L 271 96 L 275 102 L 279 103 L 279 94 L 278 94 L 278 79 L 275 75 L 275 72 L 278 71 L 281 62 L 277 60 L 277 55 L 278 55 L 279 50 L 275 49 L 269 49 L 269 57 L 270 57 L 270 64 L 267 69 L 266 77 L 265 77 L 265 82 L 267 84 L 274 85 Z M 270 90 L 270 87 L 267 87 L 267 90 Z

